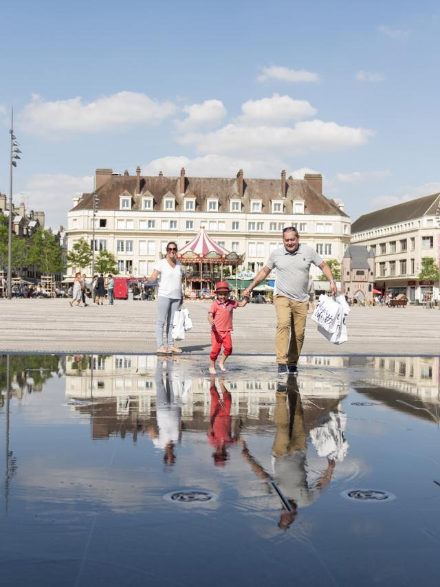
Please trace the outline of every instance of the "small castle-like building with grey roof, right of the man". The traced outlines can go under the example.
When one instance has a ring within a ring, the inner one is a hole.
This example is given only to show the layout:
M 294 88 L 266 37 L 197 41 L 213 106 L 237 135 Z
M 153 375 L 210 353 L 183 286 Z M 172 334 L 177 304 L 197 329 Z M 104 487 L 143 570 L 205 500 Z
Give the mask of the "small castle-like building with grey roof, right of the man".
M 350 245 L 341 263 L 341 290 L 351 300 L 372 302 L 374 254 L 364 245 Z

